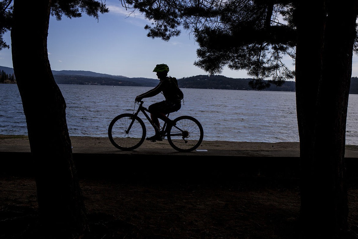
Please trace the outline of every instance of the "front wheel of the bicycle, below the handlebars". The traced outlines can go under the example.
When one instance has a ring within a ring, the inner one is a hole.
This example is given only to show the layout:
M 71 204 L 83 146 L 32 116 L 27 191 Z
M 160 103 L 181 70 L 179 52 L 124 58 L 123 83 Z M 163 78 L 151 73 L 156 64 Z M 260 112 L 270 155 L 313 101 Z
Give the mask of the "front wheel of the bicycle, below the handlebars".
M 144 142 L 145 135 L 146 128 L 143 120 L 129 113 L 116 116 L 108 126 L 108 137 L 111 143 L 121 150 L 138 148 Z

